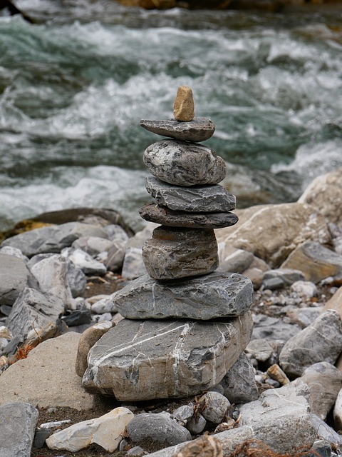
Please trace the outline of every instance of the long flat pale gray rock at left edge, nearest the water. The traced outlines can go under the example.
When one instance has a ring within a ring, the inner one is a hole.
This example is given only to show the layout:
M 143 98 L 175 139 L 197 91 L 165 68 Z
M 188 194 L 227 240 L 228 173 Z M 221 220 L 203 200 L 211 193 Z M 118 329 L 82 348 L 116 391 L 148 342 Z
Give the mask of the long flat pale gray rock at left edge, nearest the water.
M 25 231 L 7 238 L 1 246 L 19 248 L 24 256 L 32 257 L 39 253 L 59 253 L 66 246 L 81 236 L 100 236 L 106 238 L 105 231 L 99 226 L 67 222 L 60 226 L 48 226 L 41 229 Z

